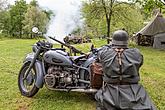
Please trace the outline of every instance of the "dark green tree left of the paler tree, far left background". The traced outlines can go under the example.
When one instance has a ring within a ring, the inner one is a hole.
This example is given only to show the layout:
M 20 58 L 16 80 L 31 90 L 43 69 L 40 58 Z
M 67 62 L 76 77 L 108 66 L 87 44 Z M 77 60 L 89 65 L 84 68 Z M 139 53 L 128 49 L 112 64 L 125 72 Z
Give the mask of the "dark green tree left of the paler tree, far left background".
M 10 35 L 22 38 L 23 35 L 23 20 L 25 19 L 25 13 L 27 11 L 27 4 L 25 0 L 15 1 L 15 5 L 10 8 Z

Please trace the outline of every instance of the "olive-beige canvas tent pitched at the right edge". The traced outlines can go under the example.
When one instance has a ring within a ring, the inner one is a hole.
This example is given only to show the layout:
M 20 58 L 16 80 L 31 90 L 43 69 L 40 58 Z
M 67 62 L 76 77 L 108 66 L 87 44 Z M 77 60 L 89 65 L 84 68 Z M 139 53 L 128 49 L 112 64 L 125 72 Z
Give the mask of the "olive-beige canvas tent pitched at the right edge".
M 137 34 L 154 39 L 154 48 L 165 49 L 165 18 L 161 14 L 157 14 L 153 21 L 149 22 Z

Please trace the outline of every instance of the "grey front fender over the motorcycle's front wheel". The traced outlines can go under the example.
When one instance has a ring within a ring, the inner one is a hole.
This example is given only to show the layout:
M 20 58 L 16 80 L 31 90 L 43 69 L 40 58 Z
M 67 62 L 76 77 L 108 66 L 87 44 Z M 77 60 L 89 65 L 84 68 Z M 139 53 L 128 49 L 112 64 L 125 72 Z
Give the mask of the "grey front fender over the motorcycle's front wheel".
M 32 62 L 33 58 L 34 58 L 34 53 L 30 53 L 26 56 L 23 62 L 24 63 Z M 36 60 L 34 65 L 35 65 L 35 69 L 37 73 L 37 79 L 36 79 L 35 85 L 38 88 L 42 88 L 44 84 L 44 71 L 43 71 L 42 62 L 39 60 Z

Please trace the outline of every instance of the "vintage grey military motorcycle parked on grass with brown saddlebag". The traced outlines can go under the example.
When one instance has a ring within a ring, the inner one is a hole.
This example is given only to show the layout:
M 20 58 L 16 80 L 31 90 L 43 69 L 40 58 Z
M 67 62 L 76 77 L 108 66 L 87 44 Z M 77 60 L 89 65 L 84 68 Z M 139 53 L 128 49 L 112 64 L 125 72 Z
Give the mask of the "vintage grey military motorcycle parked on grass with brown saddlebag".
M 38 33 L 36 27 L 32 31 Z M 92 46 L 91 53 L 86 55 L 71 45 L 49 38 L 60 43 L 61 48 L 53 48 L 45 40 L 39 40 L 32 46 L 32 53 L 25 57 L 18 75 L 21 94 L 32 97 L 43 85 L 56 91 L 96 93 L 102 86 L 101 75 L 95 75 L 91 69 L 97 49 Z M 74 56 L 66 52 L 64 46 L 74 52 Z M 76 53 L 80 55 L 77 56 Z

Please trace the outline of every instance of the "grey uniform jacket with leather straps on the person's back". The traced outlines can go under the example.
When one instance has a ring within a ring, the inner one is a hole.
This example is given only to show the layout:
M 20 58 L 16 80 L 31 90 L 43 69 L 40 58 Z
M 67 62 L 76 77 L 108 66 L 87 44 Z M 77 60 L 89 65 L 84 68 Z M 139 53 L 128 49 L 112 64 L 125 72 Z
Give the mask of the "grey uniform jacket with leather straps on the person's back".
M 139 68 L 143 63 L 143 56 L 138 49 L 121 51 L 121 67 L 118 52 L 113 48 L 103 47 L 98 57 L 103 66 L 105 82 L 138 83 L 140 80 Z

